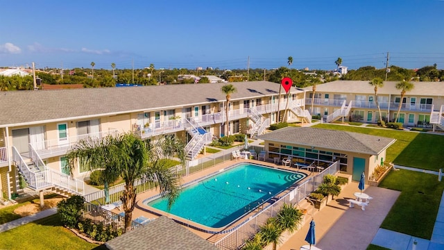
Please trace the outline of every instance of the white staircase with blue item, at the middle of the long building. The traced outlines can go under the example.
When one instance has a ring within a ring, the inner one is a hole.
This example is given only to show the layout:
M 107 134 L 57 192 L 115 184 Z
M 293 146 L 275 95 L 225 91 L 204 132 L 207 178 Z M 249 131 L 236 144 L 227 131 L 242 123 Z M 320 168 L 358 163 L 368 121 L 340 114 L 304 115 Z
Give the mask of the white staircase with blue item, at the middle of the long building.
M 198 153 L 205 147 L 205 144 L 212 142 L 212 133 L 205 131 L 205 129 L 196 122 L 192 117 L 187 118 L 185 129 L 191 135 L 187 146 L 185 146 L 185 153 L 187 160 L 194 160 Z

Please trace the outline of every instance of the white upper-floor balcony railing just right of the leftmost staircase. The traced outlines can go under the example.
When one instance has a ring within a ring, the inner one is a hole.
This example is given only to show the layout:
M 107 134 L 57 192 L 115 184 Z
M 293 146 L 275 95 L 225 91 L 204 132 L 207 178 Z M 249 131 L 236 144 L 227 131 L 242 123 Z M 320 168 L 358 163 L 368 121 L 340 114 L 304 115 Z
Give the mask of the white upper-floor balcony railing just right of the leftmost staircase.
M 49 158 L 66 154 L 67 151 L 74 147 L 77 142 L 80 142 L 80 140 L 85 140 L 87 138 L 100 140 L 101 138 L 105 138 L 108 135 L 117 134 L 117 129 L 111 129 L 110 131 L 71 136 L 69 138 L 66 138 L 65 140 L 45 140 L 42 142 L 32 142 L 31 145 L 40 157 Z

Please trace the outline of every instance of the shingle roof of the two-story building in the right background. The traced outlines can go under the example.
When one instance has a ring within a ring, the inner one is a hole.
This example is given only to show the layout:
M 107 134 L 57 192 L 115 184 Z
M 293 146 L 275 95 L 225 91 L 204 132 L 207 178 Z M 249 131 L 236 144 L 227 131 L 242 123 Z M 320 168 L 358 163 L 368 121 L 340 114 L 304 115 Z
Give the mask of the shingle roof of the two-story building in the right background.
M 374 88 L 368 84 L 370 81 L 332 81 L 316 85 L 316 92 L 325 93 L 355 93 L 355 94 L 374 94 Z M 378 94 L 400 95 L 401 91 L 395 88 L 399 81 L 384 81 L 384 86 L 377 89 Z M 413 90 L 406 93 L 406 96 L 444 96 L 444 83 L 442 82 L 411 82 Z M 311 91 L 311 86 L 304 88 Z M 332 98 L 332 97 L 330 97 Z

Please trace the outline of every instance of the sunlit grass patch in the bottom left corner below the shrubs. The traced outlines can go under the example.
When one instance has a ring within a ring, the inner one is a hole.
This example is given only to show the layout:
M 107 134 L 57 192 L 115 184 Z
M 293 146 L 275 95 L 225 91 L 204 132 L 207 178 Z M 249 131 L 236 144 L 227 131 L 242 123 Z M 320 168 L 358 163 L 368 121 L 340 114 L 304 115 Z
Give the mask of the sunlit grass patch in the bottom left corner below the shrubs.
M 105 249 L 78 238 L 60 225 L 58 215 L 0 234 L 0 249 Z

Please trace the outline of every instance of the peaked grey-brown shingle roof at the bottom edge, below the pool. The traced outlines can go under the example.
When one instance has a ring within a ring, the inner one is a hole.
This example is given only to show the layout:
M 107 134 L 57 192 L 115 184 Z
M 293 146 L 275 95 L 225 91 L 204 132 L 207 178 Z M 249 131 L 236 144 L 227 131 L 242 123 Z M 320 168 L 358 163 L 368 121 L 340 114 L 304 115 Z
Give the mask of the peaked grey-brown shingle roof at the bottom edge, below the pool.
M 159 217 L 144 227 L 124 233 L 106 242 L 110 250 L 217 250 L 218 248 L 180 226 L 172 219 Z

